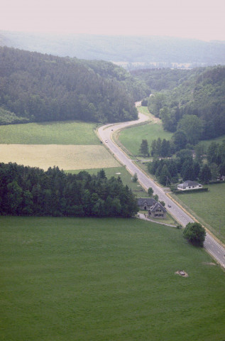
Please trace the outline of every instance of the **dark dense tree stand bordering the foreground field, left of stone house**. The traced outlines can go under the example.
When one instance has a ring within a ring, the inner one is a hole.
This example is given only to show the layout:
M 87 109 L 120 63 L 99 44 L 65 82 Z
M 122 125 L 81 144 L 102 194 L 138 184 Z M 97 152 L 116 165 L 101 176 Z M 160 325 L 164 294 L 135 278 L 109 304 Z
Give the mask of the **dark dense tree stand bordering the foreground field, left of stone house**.
M 137 200 L 120 178 L 86 171 L 65 174 L 59 168 L 0 163 L 0 215 L 54 217 L 131 217 Z

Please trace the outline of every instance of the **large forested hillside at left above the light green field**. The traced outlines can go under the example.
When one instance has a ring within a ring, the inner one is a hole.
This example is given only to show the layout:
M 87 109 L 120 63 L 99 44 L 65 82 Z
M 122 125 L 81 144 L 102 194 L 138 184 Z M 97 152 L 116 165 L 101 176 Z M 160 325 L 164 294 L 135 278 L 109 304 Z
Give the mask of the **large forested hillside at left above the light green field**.
M 147 94 L 112 63 L 0 48 L 0 124 L 136 119 L 134 102 Z

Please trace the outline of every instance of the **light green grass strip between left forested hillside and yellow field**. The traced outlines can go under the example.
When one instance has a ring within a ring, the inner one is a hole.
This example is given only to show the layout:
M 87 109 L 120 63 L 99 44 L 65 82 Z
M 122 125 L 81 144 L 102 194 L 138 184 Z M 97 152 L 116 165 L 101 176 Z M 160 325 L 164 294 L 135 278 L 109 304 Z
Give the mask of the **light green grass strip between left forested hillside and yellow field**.
M 97 125 L 82 121 L 57 121 L 0 126 L 0 144 L 100 144 Z

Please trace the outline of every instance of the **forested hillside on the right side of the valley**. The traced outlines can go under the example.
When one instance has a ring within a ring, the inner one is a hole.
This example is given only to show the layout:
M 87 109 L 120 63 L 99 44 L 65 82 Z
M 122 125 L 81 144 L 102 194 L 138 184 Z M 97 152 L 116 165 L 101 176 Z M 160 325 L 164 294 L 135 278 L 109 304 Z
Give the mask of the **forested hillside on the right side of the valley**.
M 147 70 L 139 78 L 158 91 L 148 109 L 165 130 L 183 131 L 190 144 L 225 134 L 225 66 Z

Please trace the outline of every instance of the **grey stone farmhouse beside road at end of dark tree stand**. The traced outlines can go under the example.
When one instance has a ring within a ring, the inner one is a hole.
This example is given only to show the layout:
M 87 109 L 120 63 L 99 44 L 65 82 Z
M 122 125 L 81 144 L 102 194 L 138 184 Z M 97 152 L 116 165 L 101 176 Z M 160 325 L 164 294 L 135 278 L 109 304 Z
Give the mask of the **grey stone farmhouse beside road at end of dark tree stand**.
M 153 218 L 165 218 L 166 209 L 160 202 L 152 197 L 139 197 L 138 207 L 140 210 L 147 210 L 148 216 Z

